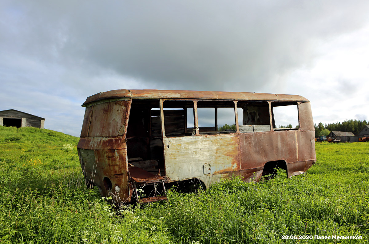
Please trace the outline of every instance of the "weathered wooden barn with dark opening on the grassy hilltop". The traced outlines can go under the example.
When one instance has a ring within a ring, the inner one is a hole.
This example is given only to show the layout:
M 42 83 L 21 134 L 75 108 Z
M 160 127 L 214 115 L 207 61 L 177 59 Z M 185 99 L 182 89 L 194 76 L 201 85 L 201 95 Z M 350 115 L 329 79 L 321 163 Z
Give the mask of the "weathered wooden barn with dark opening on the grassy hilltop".
M 24 113 L 15 109 L 8 109 L 0 111 L 0 125 L 2 126 L 14 126 L 14 127 L 36 127 L 44 128 L 45 119 Z

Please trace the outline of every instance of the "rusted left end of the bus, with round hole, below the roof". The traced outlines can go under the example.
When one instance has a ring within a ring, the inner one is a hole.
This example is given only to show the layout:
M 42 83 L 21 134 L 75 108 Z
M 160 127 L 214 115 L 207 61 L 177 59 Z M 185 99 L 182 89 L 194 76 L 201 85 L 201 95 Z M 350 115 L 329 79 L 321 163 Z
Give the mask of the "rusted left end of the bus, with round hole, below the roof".
M 87 185 L 96 186 L 117 204 L 130 199 L 124 136 L 129 105 L 122 100 L 86 107 L 77 145 Z

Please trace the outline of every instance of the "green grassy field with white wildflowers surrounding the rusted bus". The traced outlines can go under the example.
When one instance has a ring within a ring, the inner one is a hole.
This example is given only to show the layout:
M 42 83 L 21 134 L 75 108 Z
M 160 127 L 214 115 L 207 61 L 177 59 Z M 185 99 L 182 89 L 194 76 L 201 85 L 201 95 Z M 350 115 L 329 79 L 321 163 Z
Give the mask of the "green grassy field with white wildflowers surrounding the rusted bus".
M 85 188 L 77 142 L 51 130 L 0 127 L 0 244 L 369 242 L 369 142 L 317 143 L 317 163 L 290 179 L 169 190 L 166 202 L 118 211 Z

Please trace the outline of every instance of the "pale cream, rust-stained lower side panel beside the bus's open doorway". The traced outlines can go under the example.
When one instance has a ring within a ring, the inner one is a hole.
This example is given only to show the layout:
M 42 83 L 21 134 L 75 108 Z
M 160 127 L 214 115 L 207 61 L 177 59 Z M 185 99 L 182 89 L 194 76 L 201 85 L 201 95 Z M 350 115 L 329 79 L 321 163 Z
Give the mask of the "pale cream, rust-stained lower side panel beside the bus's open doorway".
M 238 136 L 164 138 L 165 173 L 170 181 L 240 170 Z

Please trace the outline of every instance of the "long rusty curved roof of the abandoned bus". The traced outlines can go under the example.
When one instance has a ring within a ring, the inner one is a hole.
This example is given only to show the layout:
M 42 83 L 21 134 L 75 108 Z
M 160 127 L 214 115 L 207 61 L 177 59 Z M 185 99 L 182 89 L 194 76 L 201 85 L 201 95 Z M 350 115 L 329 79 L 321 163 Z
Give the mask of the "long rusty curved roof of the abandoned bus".
M 252 101 L 286 101 L 310 102 L 303 96 L 255 93 L 255 92 L 210 92 L 210 91 L 172 91 L 172 90 L 113 90 L 89 96 L 82 106 L 90 103 L 120 98 L 142 99 L 218 99 L 218 100 L 252 100 Z

